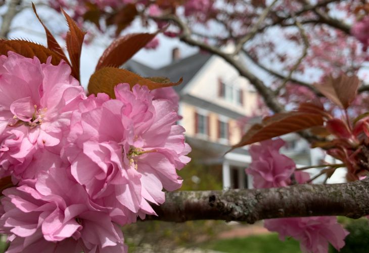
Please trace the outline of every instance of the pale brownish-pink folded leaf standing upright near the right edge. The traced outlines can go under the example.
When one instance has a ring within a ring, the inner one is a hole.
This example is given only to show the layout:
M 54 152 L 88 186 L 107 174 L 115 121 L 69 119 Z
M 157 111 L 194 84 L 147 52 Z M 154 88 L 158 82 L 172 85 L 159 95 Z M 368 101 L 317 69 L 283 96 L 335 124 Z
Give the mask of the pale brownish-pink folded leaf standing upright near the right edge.
M 357 76 L 341 74 L 337 78 L 330 75 L 324 83 L 314 83 L 314 87 L 333 103 L 347 109 L 356 97 L 359 83 Z

